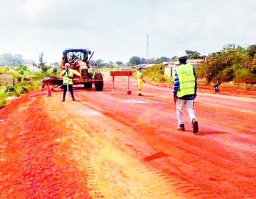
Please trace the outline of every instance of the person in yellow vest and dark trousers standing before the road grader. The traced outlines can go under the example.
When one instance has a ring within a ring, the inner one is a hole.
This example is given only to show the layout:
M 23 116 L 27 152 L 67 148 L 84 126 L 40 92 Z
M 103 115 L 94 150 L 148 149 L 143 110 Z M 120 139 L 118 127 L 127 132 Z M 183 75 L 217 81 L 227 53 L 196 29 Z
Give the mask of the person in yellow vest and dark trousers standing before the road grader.
M 77 74 L 80 76 L 79 73 L 77 73 L 75 70 L 70 69 L 70 64 L 66 63 L 65 64 L 65 69 L 62 71 L 62 77 L 63 77 L 63 98 L 62 98 L 62 102 L 65 101 L 65 96 L 66 96 L 66 92 L 69 91 L 72 97 L 73 101 L 75 100 L 74 97 L 74 92 L 73 92 L 73 74 Z

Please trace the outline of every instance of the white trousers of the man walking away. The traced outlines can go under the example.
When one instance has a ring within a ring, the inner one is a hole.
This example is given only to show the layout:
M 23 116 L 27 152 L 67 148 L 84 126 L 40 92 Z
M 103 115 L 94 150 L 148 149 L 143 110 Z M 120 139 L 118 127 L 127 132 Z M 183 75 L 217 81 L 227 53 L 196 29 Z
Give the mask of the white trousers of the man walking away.
M 184 115 L 182 112 L 182 108 L 186 107 L 190 122 L 192 122 L 193 119 L 196 119 L 195 110 L 194 110 L 194 100 L 184 100 L 184 99 L 178 99 L 176 103 L 176 114 L 178 119 L 178 125 L 184 124 Z

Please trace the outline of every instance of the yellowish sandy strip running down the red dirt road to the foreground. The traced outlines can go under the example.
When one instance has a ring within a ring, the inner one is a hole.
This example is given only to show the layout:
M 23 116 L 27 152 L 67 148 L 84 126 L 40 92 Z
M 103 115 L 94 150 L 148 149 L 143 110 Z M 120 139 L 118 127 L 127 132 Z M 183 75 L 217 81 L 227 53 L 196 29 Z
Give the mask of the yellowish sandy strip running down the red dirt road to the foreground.
M 116 130 L 127 129 L 124 125 L 84 105 L 74 107 L 73 112 L 72 122 L 66 122 L 68 129 L 73 129 L 66 144 L 72 144 L 72 159 L 79 170 L 87 173 L 92 198 L 182 198 L 173 194 L 177 190 L 168 175 L 142 164 L 130 147 L 120 142 Z M 110 123 L 107 130 L 102 127 Z M 132 133 L 131 129 L 126 133 Z

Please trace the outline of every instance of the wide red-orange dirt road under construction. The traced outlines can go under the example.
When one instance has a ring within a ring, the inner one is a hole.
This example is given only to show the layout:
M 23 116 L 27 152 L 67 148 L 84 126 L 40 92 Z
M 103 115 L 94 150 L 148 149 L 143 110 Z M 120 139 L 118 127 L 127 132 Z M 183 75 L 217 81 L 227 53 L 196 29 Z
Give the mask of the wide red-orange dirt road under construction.
M 171 88 L 127 79 L 0 110 L 0 198 L 256 198 L 255 98 L 198 92 L 193 135 Z

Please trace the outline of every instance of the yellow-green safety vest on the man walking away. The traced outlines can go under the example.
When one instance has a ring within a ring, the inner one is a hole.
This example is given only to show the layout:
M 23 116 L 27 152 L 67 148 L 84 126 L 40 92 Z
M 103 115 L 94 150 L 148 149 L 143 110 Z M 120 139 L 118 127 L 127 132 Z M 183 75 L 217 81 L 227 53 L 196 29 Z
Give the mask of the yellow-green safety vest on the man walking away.
M 190 64 L 182 64 L 178 66 L 176 72 L 179 77 L 180 88 L 177 92 L 178 97 L 182 97 L 184 95 L 193 95 L 195 94 L 195 76 L 193 73 L 193 66 Z

